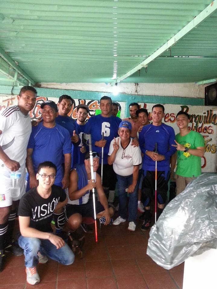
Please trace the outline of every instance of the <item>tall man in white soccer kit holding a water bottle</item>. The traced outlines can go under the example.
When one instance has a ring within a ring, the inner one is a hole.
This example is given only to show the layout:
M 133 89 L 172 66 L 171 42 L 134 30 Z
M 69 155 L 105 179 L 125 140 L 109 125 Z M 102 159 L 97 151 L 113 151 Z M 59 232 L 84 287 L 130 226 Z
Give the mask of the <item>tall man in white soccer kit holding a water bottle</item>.
M 23 251 L 12 240 L 16 217 L 17 200 L 25 193 L 26 149 L 32 131 L 29 111 L 36 103 L 36 89 L 31 86 L 21 88 L 17 95 L 18 104 L 5 108 L 0 114 L 0 271 L 6 252 L 22 255 Z M 20 195 L 10 195 L 11 172 L 19 169 Z

